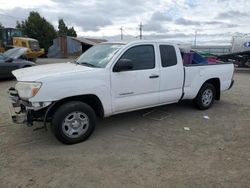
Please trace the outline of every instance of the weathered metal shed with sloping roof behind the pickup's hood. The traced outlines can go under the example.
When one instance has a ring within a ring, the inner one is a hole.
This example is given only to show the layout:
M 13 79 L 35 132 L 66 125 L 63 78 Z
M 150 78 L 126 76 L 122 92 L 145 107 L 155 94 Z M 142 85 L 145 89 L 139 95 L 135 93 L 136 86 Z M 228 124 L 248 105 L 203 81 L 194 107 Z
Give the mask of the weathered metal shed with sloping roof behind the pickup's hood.
M 53 40 L 49 47 L 48 57 L 66 58 L 79 56 L 95 44 L 106 42 L 104 39 L 62 36 Z

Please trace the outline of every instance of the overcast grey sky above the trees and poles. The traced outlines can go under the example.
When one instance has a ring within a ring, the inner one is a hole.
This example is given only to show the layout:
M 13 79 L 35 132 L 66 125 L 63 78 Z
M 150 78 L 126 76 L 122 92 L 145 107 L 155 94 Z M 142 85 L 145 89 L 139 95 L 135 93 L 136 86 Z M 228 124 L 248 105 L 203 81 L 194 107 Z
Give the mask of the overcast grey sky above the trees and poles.
M 250 0 L 0 0 L 0 22 L 15 27 L 38 11 L 56 28 L 59 18 L 79 36 L 125 40 L 166 38 L 198 44 L 227 44 L 231 36 L 250 33 Z

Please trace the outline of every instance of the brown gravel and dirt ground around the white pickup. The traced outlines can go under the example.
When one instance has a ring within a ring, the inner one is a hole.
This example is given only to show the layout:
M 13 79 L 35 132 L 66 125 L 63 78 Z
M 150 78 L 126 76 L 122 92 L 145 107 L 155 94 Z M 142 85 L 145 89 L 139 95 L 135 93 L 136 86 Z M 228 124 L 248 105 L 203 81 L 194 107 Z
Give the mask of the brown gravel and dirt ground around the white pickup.
M 1 81 L 0 187 L 249 187 L 250 74 L 235 80 L 207 111 L 185 101 L 154 108 L 162 121 L 143 116 L 152 109 L 117 115 L 70 146 L 40 124 L 13 124 L 5 92 L 15 81 Z

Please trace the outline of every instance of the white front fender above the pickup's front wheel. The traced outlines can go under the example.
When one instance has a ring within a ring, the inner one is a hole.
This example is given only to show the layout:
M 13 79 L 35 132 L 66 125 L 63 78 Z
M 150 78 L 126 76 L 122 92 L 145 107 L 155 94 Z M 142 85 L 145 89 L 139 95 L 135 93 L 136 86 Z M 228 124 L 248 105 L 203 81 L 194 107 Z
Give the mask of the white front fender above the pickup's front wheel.
M 29 99 L 30 102 L 55 102 L 68 97 L 95 95 L 103 105 L 105 116 L 111 114 L 109 74 L 99 73 L 94 78 L 93 75 L 74 75 L 41 82 L 40 90 Z

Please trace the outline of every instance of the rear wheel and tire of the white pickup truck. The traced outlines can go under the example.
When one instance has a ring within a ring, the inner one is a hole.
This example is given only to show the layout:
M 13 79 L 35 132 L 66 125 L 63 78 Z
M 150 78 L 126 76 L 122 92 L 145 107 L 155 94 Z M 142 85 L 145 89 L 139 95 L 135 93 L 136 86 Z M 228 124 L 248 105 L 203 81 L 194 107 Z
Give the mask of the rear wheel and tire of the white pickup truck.
M 198 95 L 193 100 L 195 106 L 200 110 L 207 110 L 209 109 L 215 99 L 215 88 L 212 84 L 205 83 L 201 87 Z

